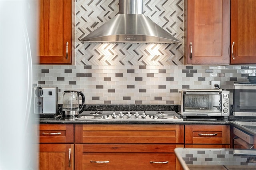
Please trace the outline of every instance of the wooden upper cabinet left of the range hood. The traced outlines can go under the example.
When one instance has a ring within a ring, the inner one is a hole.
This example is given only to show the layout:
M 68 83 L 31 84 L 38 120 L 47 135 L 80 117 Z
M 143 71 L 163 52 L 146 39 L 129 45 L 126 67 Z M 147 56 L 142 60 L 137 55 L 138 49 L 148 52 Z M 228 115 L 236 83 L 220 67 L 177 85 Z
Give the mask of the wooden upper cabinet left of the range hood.
M 40 64 L 72 63 L 72 0 L 38 1 Z

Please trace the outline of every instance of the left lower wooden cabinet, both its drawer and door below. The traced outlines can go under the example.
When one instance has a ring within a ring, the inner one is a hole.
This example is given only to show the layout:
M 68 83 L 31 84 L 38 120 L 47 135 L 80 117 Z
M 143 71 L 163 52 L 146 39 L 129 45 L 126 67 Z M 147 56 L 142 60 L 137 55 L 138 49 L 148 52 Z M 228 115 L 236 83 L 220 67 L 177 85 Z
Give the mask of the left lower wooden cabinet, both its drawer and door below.
M 74 170 L 74 125 L 39 125 L 35 133 L 40 143 L 38 169 Z

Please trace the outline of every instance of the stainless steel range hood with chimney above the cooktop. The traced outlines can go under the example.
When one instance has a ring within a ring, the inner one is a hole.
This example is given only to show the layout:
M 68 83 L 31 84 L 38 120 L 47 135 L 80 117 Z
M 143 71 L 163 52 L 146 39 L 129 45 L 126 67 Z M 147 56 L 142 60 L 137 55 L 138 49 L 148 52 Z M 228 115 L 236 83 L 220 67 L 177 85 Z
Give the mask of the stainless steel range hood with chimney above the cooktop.
M 119 13 L 81 42 L 180 43 L 142 14 L 143 0 L 119 0 Z

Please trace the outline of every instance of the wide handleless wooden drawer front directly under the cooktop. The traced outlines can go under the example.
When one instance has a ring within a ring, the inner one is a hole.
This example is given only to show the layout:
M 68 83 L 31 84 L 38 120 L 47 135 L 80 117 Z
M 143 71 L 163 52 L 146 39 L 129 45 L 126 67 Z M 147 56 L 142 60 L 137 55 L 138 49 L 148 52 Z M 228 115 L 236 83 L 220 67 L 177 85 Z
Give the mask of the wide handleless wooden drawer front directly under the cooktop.
M 184 143 L 184 125 L 75 125 L 75 143 Z

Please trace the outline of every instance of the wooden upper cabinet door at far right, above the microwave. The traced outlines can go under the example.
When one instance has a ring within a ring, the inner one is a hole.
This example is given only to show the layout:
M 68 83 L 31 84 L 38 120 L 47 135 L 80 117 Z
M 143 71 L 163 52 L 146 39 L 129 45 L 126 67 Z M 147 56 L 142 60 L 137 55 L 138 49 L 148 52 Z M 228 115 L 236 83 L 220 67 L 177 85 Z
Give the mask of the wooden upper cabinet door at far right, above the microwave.
M 256 63 L 255 9 L 255 0 L 231 0 L 231 64 Z

